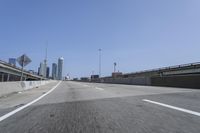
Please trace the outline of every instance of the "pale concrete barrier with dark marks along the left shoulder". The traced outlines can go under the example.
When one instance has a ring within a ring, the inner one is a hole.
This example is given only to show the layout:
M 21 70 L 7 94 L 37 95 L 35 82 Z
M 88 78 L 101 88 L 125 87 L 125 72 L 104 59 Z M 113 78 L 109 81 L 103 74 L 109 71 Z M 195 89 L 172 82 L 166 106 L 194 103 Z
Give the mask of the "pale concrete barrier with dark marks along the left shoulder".
M 55 81 L 47 80 L 47 81 L 0 82 L 0 97 L 19 91 L 33 89 L 52 82 Z

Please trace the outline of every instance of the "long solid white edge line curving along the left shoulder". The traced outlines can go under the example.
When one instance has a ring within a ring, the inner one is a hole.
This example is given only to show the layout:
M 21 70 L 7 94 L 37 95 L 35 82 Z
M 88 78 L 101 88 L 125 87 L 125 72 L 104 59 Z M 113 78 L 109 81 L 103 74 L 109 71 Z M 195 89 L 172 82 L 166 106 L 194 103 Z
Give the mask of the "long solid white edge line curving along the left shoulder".
M 62 82 L 62 81 L 60 81 L 56 86 L 54 86 L 54 87 L 53 87 L 51 90 L 49 90 L 47 93 L 45 93 L 44 95 L 40 96 L 39 98 L 33 100 L 32 102 L 27 103 L 26 105 L 24 105 L 24 106 L 22 106 L 22 107 L 19 107 L 19 108 L 13 110 L 13 111 L 11 111 L 11 112 L 9 112 L 9 113 L 7 113 L 7 114 L 1 116 L 1 117 L 0 117 L 0 122 L 3 121 L 3 120 L 5 120 L 5 119 L 7 119 L 8 117 L 10 117 L 10 116 L 16 114 L 17 112 L 19 112 L 19 111 L 21 111 L 21 110 L 27 108 L 28 106 L 30 106 L 30 105 L 36 103 L 37 101 L 39 101 L 40 99 L 42 99 L 43 97 L 45 97 L 46 95 L 48 95 L 49 93 L 51 93 L 52 91 L 54 91 L 54 90 L 60 85 L 61 82 Z

